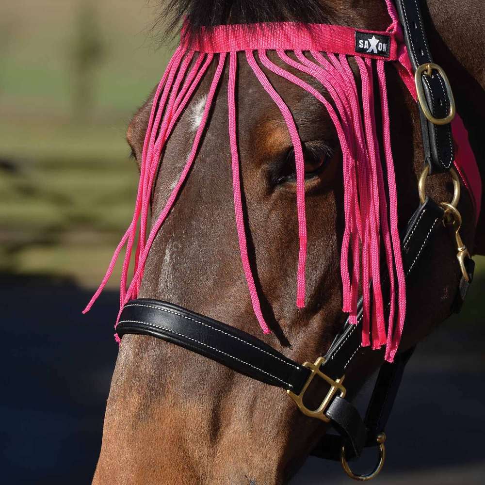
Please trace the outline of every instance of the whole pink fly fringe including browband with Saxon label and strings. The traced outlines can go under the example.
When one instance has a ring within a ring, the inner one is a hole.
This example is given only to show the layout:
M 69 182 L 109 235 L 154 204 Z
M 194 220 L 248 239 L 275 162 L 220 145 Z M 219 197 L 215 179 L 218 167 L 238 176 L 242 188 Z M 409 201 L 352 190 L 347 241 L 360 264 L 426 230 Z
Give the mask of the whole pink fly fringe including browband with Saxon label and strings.
M 136 298 L 148 252 L 194 164 L 202 136 L 207 129 L 210 108 L 214 103 L 217 87 L 228 65 L 229 142 L 235 219 L 242 268 L 259 325 L 264 333 L 270 332 L 260 309 L 259 296 L 248 259 L 243 222 L 235 86 L 238 82 L 238 64 L 244 62 L 251 67 L 259 83 L 279 108 L 294 148 L 299 227 L 296 305 L 299 308 L 305 306 L 307 257 L 305 161 L 302 142 L 292 113 L 268 80 L 267 72 L 286 79 L 315 97 L 322 103 L 335 126 L 342 152 L 344 183 L 345 229 L 340 259 L 342 309 L 349 313 L 351 323 L 357 324 L 360 318 L 362 319 L 362 346 L 372 344 L 373 349 L 379 349 L 382 345 L 386 345 L 385 358 L 389 362 L 393 361 L 403 332 L 406 291 L 398 232 L 397 193 L 390 143 L 384 63 L 391 61 L 414 97 L 416 92 L 396 11 L 389 0 L 386 0 L 386 3 L 391 24 L 385 32 L 356 30 L 335 25 L 276 22 L 216 26 L 203 30 L 189 42 L 187 29 L 182 29 L 180 45 L 173 54 L 153 99 L 131 224 L 116 248 L 107 273 L 85 312 L 93 305 L 104 288 L 125 245 L 120 312 L 129 300 Z M 284 67 L 276 65 L 269 59 L 268 50 L 275 52 Z M 243 52 L 244 55 L 238 56 L 238 52 Z M 356 84 L 356 76 L 349 65 L 349 58 L 356 63 L 361 87 Z M 178 119 L 185 113 L 201 79 L 212 65 L 215 66 L 215 69 L 212 69 L 214 74 L 192 150 L 165 207 L 158 218 L 152 221 L 151 229 L 147 233 L 150 196 L 159 163 L 161 163 L 163 148 Z M 320 82 L 330 100 L 323 97 L 317 89 L 298 75 L 293 74 L 295 71 Z M 378 86 L 375 91 L 374 83 Z M 383 153 L 380 152 L 377 136 L 374 92 L 378 92 L 380 98 L 378 104 L 382 119 Z M 387 183 L 384 180 L 383 166 L 387 174 Z M 251 201 L 248 203 L 250 204 Z M 386 282 L 389 285 L 388 307 L 384 304 L 381 288 L 383 284 L 380 267 L 381 245 L 383 245 L 388 273 L 388 283 Z M 136 251 L 135 269 L 133 278 L 127 285 L 133 248 Z M 361 316 L 357 314 L 359 288 L 361 288 L 363 300 Z

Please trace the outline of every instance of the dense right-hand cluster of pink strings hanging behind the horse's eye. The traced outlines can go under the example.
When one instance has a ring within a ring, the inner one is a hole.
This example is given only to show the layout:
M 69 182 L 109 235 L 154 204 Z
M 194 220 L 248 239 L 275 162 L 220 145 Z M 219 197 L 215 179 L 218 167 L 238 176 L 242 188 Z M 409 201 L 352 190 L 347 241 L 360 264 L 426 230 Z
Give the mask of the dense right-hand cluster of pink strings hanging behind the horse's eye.
M 401 339 L 406 302 L 401 243 L 397 225 L 397 193 L 390 146 L 384 62 L 370 59 L 364 61 L 356 58 L 362 83 L 361 93 L 358 93 L 355 76 L 346 56 L 337 57 L 332 53 L 324 56 L 318 51 L 311 51 L 313 57 L 311 60 L 302 51 L 295 50 L 297 62 L 290 58 L 284 50 L 276 52 L 279 58 L 290 67 L 320 81 L 337 108 L 336 113 L 332 105 L 317 90 L 271 62 L 265 50 L 259 50 L 259 59 L 266 68 L 298 85 L 318 99 L 334 123 L 343 155 L 345 230 L 340 260 L 343 311 L 350 314 L 352 323 L 359 323 L 360 318 L 363 319 L 362 345 L 371 345 L 372 336 L 372 348 L 379 349 L 382 345 L 387 344 L 386 359 L 392 361 Z M 372 63 L 377 65 L 389 203 L 385 193 L 376 133 Z M 253 63 L 250 62 L 250 65 L 253 67 Z M 360 106 L 363 108 L 363 117 Z M 295 145 L 294 142 L 293 144 Z M 295 149 L 295 158 L 296 153 Z M 387 334 L 384 316 L 387 308 L 384 308 L 381 288 L 381 235 L 390 287 Z M 350 271 L 351 265 L 352 271 Z M 398 324 L 396 331 L 393 331 L 396 320 L 395 274 L 398 280 Z M 362 290 L 363 312 L 358 319 L 359 286 Z

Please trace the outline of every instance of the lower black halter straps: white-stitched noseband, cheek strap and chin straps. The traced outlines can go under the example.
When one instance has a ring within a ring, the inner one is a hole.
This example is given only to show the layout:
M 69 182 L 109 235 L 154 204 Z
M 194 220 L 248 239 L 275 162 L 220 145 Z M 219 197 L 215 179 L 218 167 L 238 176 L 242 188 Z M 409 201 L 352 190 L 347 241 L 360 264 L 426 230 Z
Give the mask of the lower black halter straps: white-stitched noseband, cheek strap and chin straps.
M 411 218 L 402 238 L 407 278 L 411 277 L 425 254 L 442 216 L 443 211 L 428 199 Z M 159 300 L 130 301 L 123 308 L 116 330 L 120 338 L 125 334 L 142 334 L 167 340 L 236 372 L 286 389 L 304 414 L 332 422 L 340 432 L 341 439 L 333 439 L 330 447 L 323 441 L 314 452 L 325 458 L 339 459 L 343 445 L 349 447 L 350 457 L 359 456 L 366 445 L 378 444 L 377 436 L 384 431 L 397 392 L 396 378 L 400 379 L 412 352 L 398 355 L 393 364 L 383 364 L 364 422 L 356 408 L 344 399 L 345 388 L 342 385 L 349 364 L 354 360 L 364 360 L 372 352 L 370 347 L 361 346 L 362 302 L 358 307 L 357 325 L 347 321 L 325 356 L 315 364 L 306 362 L 300 365 L 242 330 Z M 317 376 L 330 389 L 322 405 L 313 411 L 303 404 L 303 395 L 310 381 Z

